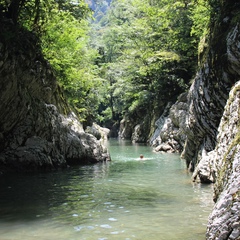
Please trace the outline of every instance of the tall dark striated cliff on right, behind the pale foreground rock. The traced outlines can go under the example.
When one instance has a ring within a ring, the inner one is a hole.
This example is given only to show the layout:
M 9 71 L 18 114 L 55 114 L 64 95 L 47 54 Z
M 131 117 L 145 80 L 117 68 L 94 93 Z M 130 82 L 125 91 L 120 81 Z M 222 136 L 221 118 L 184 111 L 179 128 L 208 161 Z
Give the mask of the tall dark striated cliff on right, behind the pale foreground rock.
M 209 46 L 188 94 L 189 111 L 184 129 L 187 139 L 182 157 L 192 171 L 214 150 L 229 91 L 240 79 L 240 25 L 237 20 L 240 6 L 236 1 L 231 4 L 222 1 L 220 5 L 219 19 L 211 28 Z M 198 166 L 199 178 L 204 182 L 214 181 L 215 170 L 211 166 L 211 163 Z

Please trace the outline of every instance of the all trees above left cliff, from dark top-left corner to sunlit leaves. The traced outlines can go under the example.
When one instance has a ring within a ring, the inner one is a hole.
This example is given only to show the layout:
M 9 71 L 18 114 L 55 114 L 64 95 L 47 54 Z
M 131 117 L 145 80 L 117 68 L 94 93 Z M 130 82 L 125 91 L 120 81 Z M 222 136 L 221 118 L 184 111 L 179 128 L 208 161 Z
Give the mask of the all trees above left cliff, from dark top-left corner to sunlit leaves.
M 38 35 L 43 54 L 81 120 L 94 116 L 97 52 L 88 49 L 90 10 L 84 0 L 12 0 L 0 5 L 2 17 Z

